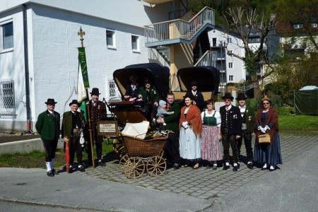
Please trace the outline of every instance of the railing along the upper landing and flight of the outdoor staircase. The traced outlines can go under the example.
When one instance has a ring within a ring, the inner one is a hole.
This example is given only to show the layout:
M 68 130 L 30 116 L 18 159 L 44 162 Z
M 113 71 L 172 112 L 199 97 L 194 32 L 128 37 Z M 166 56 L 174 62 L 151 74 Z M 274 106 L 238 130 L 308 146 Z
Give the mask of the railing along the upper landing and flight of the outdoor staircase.
M 206 6 L 189 21 L 176 19 L 145 25 L 146 43 L 177 38 L 191 40 L 207 23 L 215 24 L 215 13 L 212 8 Z

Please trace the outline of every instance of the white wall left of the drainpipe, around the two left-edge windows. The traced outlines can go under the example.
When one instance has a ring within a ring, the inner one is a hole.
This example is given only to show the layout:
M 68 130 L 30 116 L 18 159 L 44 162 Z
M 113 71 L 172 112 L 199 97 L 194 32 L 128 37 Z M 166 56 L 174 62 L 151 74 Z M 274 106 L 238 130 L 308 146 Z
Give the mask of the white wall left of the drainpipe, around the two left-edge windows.
M 25 129 L 26 110 L 22 6 L 14 8 L 11 11 L 0 13 L 0 25 L 7 21 L 13 21 L 14 47 L 0 51 L 0 81 L 14 82 L 14 103 L 16 111 L 14 115 L 0 115 L 0 129 Z

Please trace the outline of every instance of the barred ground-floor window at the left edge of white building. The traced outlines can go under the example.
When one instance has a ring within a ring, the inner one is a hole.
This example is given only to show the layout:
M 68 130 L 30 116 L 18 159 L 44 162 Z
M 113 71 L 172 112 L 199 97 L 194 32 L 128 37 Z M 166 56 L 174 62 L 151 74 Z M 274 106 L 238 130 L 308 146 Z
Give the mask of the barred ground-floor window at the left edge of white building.
M 16 115 L 14 81 L 0 81 L 0 116 Z

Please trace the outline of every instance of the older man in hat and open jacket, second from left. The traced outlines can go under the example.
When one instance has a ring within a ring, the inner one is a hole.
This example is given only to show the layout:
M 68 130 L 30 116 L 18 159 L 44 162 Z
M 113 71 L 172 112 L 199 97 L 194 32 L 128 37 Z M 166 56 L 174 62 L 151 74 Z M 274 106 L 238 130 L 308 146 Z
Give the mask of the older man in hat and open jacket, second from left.
M 71 111 L 64 112 L 61 126 L 61 137 L 64 139 L 64 142 L 69 142 L 69 173 L 73 172 L 75 151 L 78 170 L 85 172 L 82 151 L 85 142 L 84 133 L 86 119 L 81 112 L 77 111 L 78 107 L 80 107 L 80 104 L 77 100 L 72 100 L 72 102 L 69 103 L 69 106 L 71 107 Z

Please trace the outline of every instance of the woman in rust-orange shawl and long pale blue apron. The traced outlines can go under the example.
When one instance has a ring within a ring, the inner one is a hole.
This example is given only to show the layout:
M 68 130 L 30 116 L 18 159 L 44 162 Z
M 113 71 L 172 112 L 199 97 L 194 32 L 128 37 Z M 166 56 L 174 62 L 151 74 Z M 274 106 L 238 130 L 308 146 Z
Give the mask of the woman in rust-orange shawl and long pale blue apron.
M 191 95 L 184 96 L 185 106 L 181 109 L 179 120 L 179 152 L 187 162 L 194 162 L 194 169 L 199 168 L 201 160 L 202 120 L 199 107 L 193 105 Z

